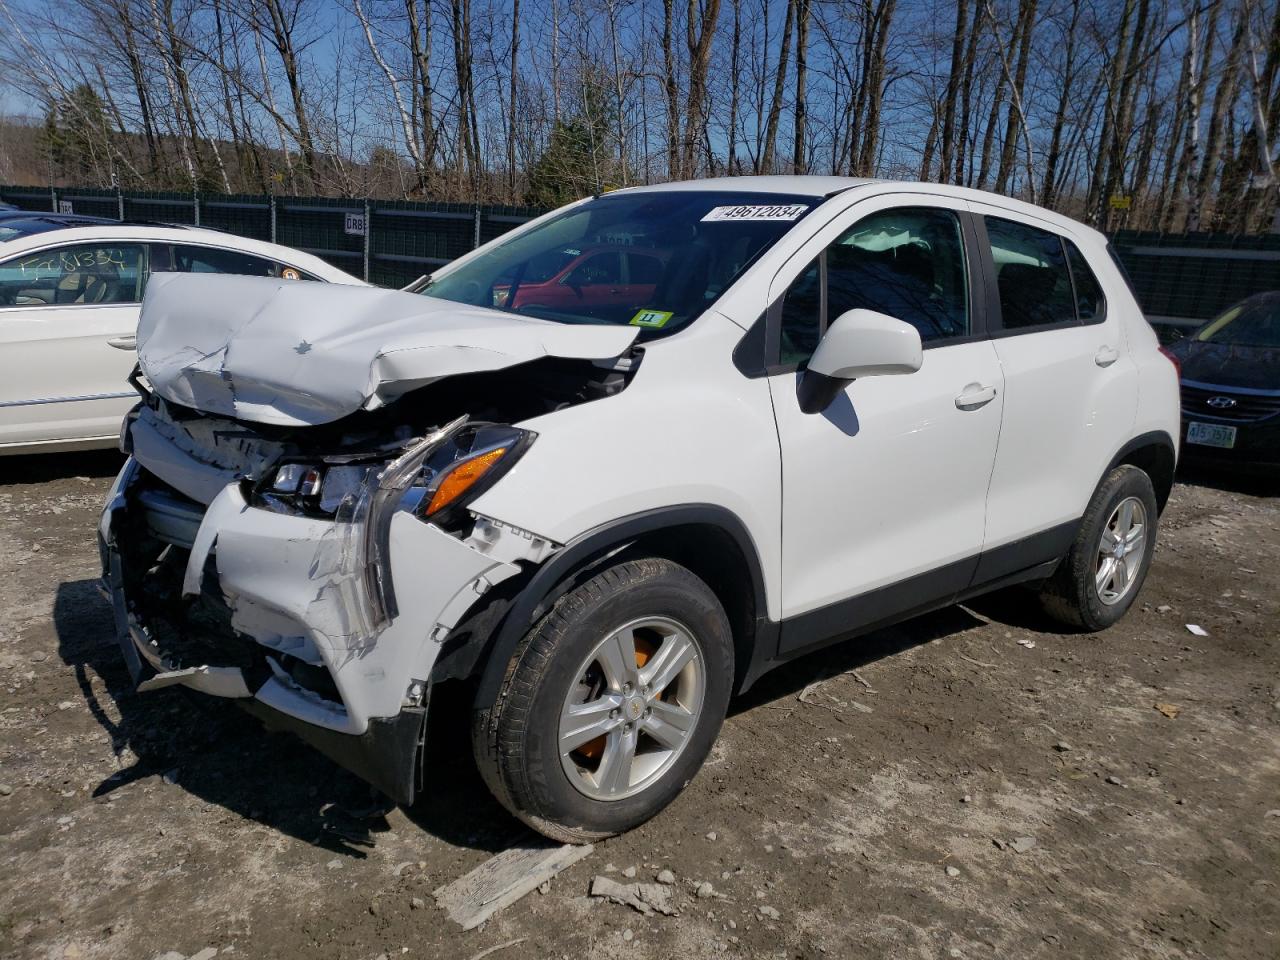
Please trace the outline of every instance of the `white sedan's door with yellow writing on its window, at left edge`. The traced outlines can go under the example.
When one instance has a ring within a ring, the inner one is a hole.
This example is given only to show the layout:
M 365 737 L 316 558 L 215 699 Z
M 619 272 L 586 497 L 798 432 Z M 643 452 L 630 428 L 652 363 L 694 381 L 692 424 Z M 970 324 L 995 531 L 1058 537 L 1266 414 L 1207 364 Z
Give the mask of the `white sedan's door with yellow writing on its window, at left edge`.
M 0 445 L 114 438 L 145 282 L 142 243 L 46 247 L 0 262 Z

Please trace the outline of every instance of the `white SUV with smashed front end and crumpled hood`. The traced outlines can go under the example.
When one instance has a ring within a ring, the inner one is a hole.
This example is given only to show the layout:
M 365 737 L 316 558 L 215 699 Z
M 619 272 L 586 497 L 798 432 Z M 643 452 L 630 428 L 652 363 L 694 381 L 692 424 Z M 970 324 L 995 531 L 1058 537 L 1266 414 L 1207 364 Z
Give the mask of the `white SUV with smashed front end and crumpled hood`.
M 159 275 L 138 353 L 100 534 L 140 689 L 410 803 L 466 681 L 486 781 L 570 841 L 799 654 L 1015 582 L 1115 622 L 1179 435 L 1105 238 L 932 184 L 617 191 L 417 293 Z

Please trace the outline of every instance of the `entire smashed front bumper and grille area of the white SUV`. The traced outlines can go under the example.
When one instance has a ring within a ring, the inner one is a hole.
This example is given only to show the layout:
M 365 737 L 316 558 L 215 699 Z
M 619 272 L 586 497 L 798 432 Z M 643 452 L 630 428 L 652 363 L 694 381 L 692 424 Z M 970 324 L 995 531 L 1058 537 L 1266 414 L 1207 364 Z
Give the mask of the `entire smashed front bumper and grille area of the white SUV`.
M 230 420 L 173 419 L 163 403 L 143 407 L 131 476 L 141 465 L 142 476 L 154 479 L 129 498 L 118 492 L 102 527 L 105 570 L 119 558 L 115 524 L 131 544 L 132 604 L 120 576 L 114 588 L 127 655 L 141 654 L 165 684 L 230 696 L 247 689 L 261 703 L 334 732 L 362 733 L 371 719 L 398 713 L 406 677 L 431 673 L 440 649 L 431 640 L 494 584 L 515 576 L 520 562 L 557 549 L 500 525 L 460 539 L 416 516 L 410 488 L 424 460 L 465 424 L 460 417 L 399 442 L 401 454 L 390 462 L 358 465 L 362 479 L 326 517 L 250 502 L 242 477 L 269 476 L 280 443 Z M 157 511 L 163 516 L 152 516 Z M 147 535 L 141 543 L 140 532 Z M 169 613 L 174 607 L 164 607 L 169 590 L 186 611 L 177 620 Z M 151 596 L 161 598 L 145 604 L 154 609 L 134 609 Z M 195 611 L 214 620 L 196 625 Z M 166 622 L 163 636 L 150 630 L 152 616 Z M 211 646 L 186 643 L 189 631 Z M 238 669 L 211 676 L 221 667 Z

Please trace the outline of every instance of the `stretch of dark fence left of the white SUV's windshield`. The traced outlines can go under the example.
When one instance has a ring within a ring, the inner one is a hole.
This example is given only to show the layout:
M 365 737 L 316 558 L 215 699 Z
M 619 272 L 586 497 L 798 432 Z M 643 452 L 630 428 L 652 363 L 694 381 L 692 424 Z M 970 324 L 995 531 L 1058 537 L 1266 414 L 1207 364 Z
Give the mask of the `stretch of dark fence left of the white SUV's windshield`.
M 128 193 L 79 187 L 0 187 L 23 210 L 209 227 L 283 243 L 384 287 L 403 287 L 538 216 L 518 206 L 227 193 Z

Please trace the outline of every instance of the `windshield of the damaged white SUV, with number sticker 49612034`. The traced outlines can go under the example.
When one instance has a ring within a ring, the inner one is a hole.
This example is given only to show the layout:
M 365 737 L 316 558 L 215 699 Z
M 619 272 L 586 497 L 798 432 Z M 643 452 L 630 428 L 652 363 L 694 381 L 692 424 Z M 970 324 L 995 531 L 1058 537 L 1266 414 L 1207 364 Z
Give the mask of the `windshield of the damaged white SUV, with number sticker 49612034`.
M 662 335 L 707 310 L 817 202 L 733 191 L 602 196 L 497 243 L 421 293 Z

